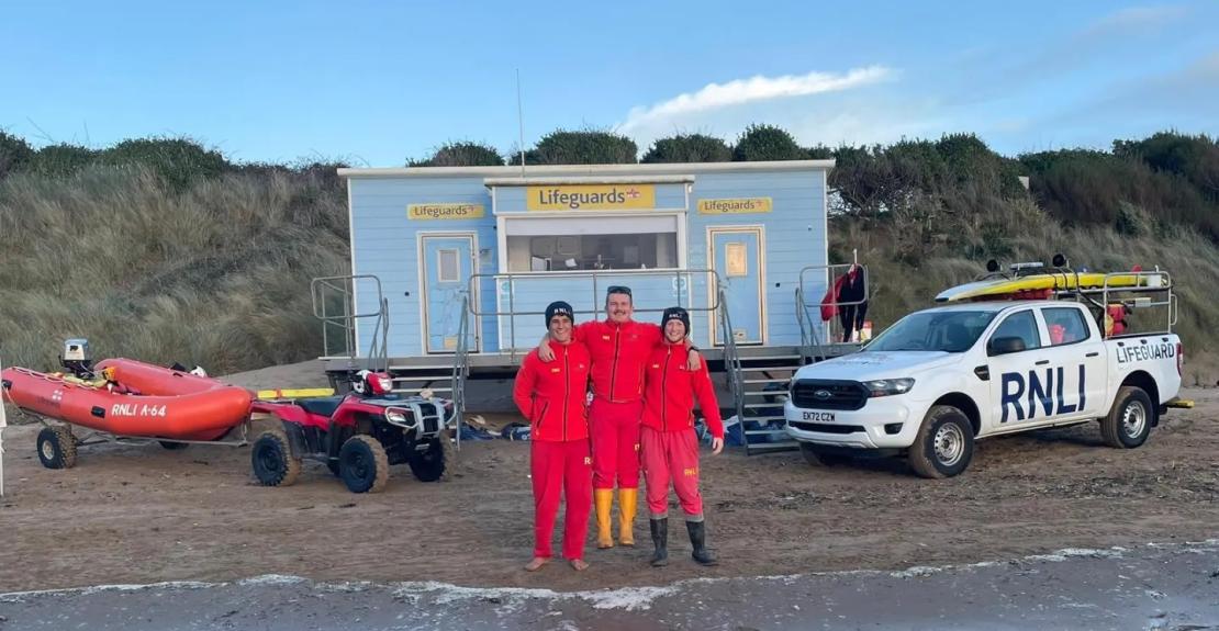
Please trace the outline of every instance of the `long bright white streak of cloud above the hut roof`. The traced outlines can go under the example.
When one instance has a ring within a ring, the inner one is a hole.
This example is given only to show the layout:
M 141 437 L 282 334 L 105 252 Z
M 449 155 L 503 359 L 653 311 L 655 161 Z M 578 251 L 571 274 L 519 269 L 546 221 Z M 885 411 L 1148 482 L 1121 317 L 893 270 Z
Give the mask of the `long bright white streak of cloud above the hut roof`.
M 624 133 L 644 129 L 674 128 L 686 123 L 691 115 L 706 113 L 725 107 L 807 96 L 820 93 L 850 90 L 884 80 L 892 71 L 884 66 L 855 68 L 846 74 L 811 72 L 783 77 L 751 77 L 728 83 L 711 83 L 696 93 L 680 94 L 651 107 L 634 107 L 627 122 L 619 125 Z

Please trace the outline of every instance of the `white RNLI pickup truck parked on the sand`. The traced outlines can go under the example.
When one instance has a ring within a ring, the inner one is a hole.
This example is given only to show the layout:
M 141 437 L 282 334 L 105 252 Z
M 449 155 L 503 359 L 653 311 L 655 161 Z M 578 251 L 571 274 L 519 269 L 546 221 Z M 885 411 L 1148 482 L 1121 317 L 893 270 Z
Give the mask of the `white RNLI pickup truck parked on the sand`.
M 1176 403 L 1181 361 L 1176 335 L 1103 339 L 1074 301 L 950 305 L 801 368 L 784 415 L 809 462 L 904 453 L 948 478 L 975 440 L 1017 431 L 1100 420 L 1107 445 L 1139 447 Z

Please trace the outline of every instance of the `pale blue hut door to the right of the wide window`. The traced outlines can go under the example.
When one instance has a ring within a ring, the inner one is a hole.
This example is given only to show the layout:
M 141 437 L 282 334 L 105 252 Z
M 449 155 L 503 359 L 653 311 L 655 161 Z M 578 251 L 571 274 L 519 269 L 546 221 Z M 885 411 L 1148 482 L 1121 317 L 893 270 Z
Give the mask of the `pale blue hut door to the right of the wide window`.
M 714 227 L 707 228 L 711 246 L 709 258 L 724 287 L 724 301 L 731 320 L 733 340 L 736 344 L 763 344 L 766 341 L 766 258 L 762 228 Z M 716 297 L 712 296 L 712 302 Z M 719 316 L 712 318 L 712 339 L 717 346 L 724 344 Z

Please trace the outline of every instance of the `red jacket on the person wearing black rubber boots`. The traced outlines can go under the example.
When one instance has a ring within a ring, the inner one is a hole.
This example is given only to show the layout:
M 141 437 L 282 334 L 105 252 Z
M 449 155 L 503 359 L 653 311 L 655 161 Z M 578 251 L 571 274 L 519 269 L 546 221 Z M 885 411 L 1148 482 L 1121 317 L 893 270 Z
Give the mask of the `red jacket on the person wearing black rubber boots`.
M 698 370 L 686 367 L 690 351 L 685 342 L 656 346 L 647 359 L 647 391 L 644 395 L 644 425 L 658 431 L 684 431 L 694 428 L 694 402 L 698 400 L 707 429 L 717 439 L 724 437 L 724 421 L 719 418 L 716 387 L 711 385 L 707 362 Z

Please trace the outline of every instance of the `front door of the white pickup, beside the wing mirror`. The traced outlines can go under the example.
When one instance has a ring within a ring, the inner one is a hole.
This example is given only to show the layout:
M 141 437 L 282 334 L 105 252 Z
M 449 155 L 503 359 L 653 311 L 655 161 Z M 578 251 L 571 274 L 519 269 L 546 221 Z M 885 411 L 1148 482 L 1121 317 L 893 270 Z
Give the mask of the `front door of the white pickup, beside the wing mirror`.
M 1008 313 L 991 331 L 986 340 L 991 430 L 1008 431 L 1047 417 L 1040 401 L 1030 409 L 1029 396 L 1029 374 L 1041 368 L 1041 328 L 1032 308 Z

